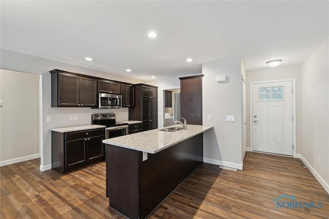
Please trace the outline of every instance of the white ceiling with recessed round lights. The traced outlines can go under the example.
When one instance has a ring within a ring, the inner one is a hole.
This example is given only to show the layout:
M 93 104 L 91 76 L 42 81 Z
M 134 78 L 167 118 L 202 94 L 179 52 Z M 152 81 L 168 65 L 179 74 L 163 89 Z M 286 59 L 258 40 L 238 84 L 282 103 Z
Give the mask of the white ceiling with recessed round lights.
M 231 57 L 242 57 L 247 71 L 269 68 L 269 59 L 294 66 L 329 35 L 328 5 L 1 0 L 1 48 L 142 81 L 198 74 L 203 63 Z

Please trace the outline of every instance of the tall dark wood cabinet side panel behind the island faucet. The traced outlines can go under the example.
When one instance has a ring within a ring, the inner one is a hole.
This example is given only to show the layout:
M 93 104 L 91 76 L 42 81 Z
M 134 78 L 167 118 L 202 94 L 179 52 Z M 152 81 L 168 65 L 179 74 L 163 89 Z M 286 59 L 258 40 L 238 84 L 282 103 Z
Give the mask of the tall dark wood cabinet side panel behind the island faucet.
M 180 114 L 187 124 L 202 125 L 202 77 L 195 75 L 180 79 Z

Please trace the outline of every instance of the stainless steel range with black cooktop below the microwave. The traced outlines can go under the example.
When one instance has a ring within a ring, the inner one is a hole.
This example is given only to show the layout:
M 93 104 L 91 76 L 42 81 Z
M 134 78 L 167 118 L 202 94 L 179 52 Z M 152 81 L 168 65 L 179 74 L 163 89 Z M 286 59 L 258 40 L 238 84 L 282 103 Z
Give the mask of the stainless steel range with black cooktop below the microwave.
M 115 118 L 115 113 L 93 114 L 92 123 L 106 126 L 106 138 L 128 134 L 128 124 L 116 122 Z

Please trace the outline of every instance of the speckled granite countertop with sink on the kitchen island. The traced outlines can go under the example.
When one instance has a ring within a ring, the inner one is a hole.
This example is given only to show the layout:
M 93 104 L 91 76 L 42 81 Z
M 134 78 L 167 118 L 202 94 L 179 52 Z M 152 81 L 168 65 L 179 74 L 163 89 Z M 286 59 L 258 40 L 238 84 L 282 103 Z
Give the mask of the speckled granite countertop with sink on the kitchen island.
M 168 126 L 166 128 L 169 127 L 181 126 L 174 125 Z M 213 128 L 213 126 L 187 125 L 187 130 L 183 129 L 175 132 L 159 131 L 158 129 L 153 129 L 135 134 L 108 138 L 103 140 L 103 143 L 142 152 L 157 153 L 211 128 Z

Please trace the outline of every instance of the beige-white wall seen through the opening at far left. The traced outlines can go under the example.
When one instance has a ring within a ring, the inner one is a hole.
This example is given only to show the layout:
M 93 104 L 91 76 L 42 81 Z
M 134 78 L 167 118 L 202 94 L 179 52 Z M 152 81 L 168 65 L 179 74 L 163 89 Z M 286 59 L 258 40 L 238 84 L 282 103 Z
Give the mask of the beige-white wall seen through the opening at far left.
M 39 79 L 0 69 L 0 166 L 40 157 Z

